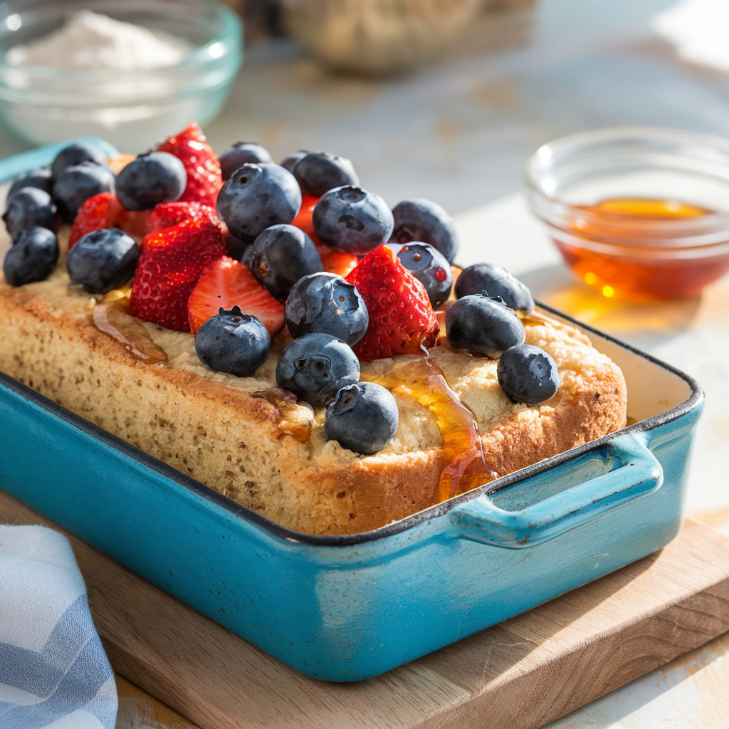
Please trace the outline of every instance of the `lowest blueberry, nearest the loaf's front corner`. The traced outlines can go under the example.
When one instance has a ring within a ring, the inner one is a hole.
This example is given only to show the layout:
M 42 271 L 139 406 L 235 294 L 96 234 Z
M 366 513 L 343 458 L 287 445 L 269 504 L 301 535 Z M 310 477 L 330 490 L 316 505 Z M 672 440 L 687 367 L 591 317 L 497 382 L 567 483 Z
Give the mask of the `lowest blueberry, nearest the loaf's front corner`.
M 324 437 L 355 453 L 381 451 L 397 431 L 397 402 L 392 393 L 373 382 L 359 382 L 338 391 L 327 406 Z

